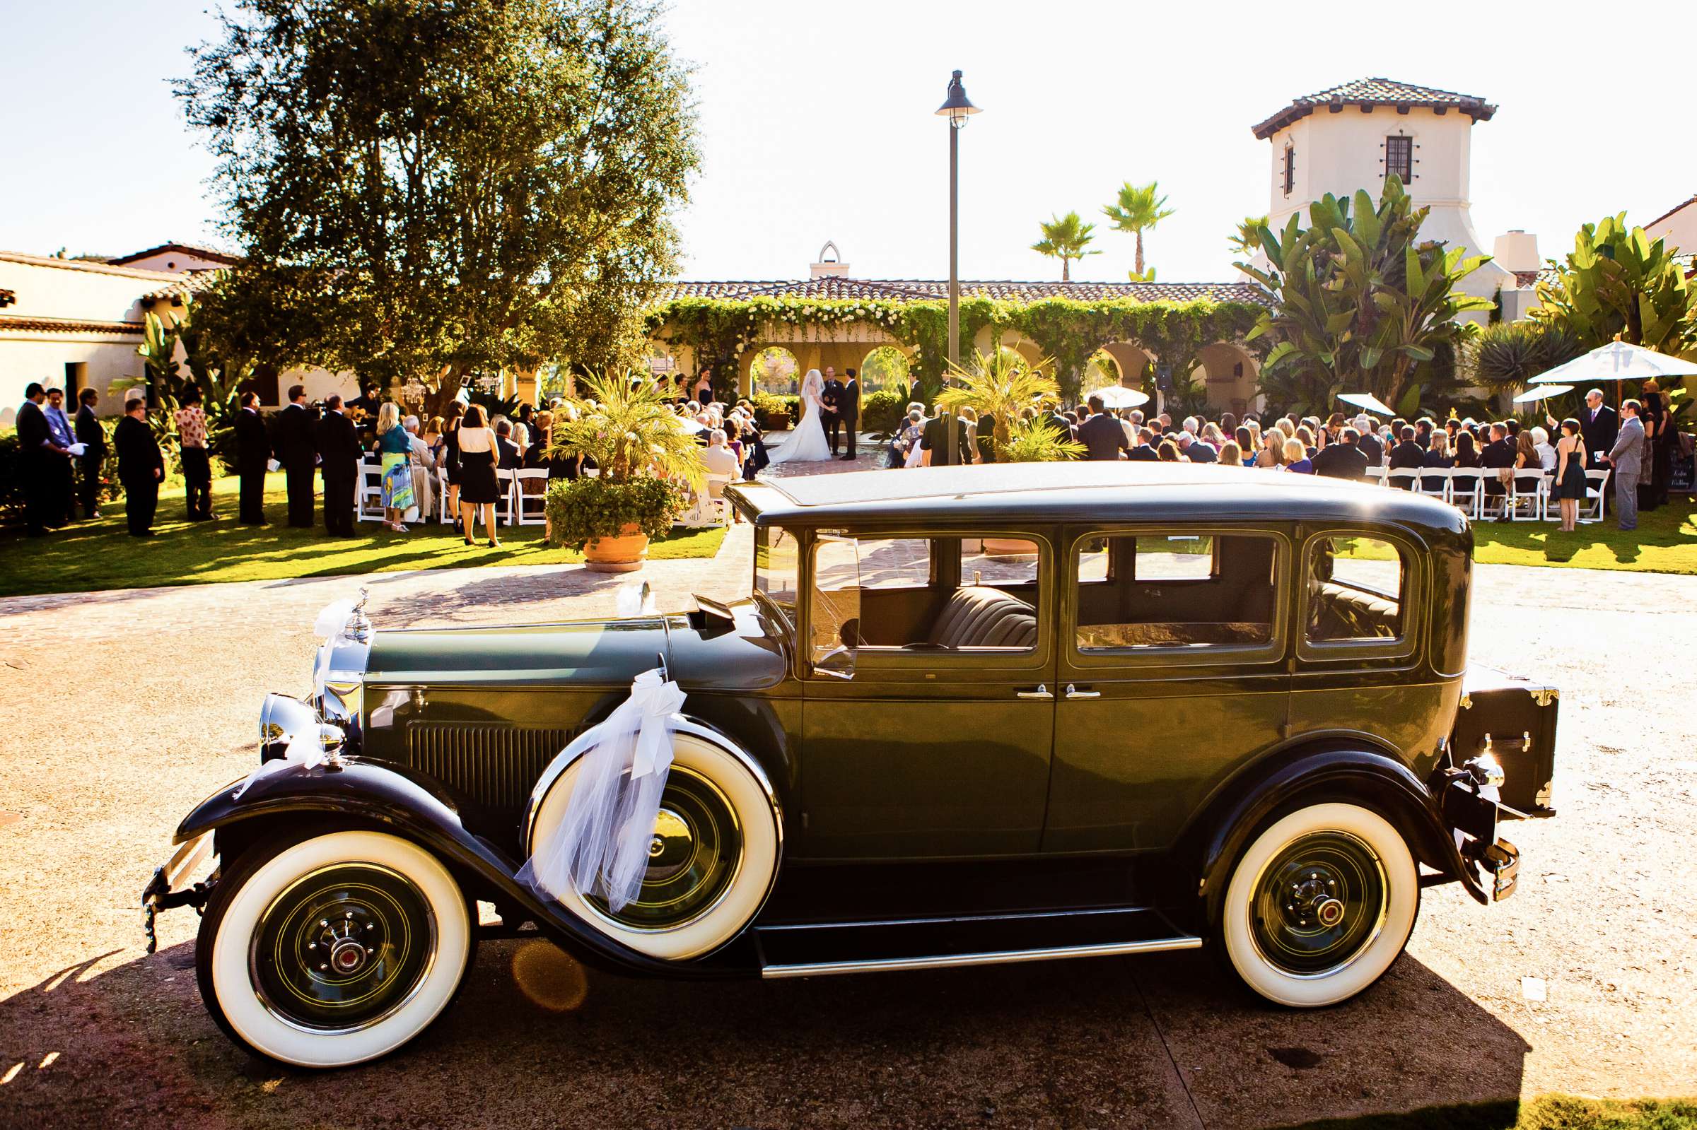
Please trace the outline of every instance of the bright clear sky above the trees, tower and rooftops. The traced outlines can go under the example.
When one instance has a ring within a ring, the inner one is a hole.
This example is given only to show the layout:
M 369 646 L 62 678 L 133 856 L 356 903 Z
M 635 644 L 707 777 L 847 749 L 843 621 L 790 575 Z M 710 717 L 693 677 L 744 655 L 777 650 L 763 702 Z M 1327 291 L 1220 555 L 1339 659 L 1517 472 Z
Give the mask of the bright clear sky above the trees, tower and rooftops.
M 1249 127 L 1293 97 L 1386 76 L 1498 105 L 1473 127 L 1473 221 L 1544 256 L 1585 221 L 1646 222 L 1697 192 L 1690 0 L 1607 5 L 1144 5 L 1127 0 L 679 0 L 704 165 L 679 217 L 687 278 L 798 278 L 826 239 L 859 277 L 947 273 L 949 71 L 983 107 L 961 137 L 961 271 L 1057 278 L 1037 222 L 1096 215 L 1125 180 L 1178 214 L 1145 238 L 1164 282 L 1230 277 L 1268 209 Z M 170 97 L 202 3 L 0 0 L 0 248 L 217 241 L 207 154 Z M 1123 280 L 1129 236 L 1074 278 Z

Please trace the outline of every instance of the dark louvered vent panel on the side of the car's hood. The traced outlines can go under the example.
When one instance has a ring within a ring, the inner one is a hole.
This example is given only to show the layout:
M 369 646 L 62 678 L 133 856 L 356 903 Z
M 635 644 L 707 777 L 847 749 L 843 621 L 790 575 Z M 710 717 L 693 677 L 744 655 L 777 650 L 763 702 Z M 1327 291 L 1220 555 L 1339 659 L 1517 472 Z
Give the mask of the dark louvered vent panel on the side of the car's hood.
M 407 765 L 484 808 L 518 813 L 553 755 L 579 730 L 496 723 L 412 723 Z

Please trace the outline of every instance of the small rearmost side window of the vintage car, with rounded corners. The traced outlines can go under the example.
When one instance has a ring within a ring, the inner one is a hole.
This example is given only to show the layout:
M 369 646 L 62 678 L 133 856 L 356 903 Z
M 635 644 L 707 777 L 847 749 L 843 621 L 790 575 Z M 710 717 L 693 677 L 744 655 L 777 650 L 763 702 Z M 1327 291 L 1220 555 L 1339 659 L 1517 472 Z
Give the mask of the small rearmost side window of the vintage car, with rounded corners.
M 1397 640 L 1409 570 L 1385 538 L 1315 538 L 1308 546 L 1308 641 Z

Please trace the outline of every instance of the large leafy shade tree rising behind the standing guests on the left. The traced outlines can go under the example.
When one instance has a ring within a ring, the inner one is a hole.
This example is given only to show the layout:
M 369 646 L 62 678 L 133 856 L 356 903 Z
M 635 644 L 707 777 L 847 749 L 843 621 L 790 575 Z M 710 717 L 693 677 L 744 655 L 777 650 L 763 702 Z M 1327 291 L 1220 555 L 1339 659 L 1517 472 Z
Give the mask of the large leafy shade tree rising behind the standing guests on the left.
M 438 399 L 633 346 L 697 165 L 655 3 L 236 0 L 221 25 L 176 83 L 246 255 L 214 338 Z

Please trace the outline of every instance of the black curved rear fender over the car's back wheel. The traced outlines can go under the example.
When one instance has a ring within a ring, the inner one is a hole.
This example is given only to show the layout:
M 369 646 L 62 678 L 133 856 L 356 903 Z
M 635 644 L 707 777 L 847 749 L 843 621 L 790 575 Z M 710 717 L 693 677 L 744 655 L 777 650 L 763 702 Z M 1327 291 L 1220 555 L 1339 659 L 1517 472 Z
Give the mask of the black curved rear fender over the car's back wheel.
M 1456 850 L 1432 792 L 1402 760 L 1361 743 L 1302 747 L 1234 779 L 1181 835 L 1200 875 L 1207 921 L 1217 921 L 1232 865 L 1268 818 L 1293 801 L 1368 801 L 1397 825 L 1419 862 L 1459 879 L 1480 903 L 1490 896 Z

